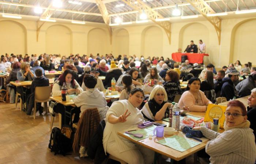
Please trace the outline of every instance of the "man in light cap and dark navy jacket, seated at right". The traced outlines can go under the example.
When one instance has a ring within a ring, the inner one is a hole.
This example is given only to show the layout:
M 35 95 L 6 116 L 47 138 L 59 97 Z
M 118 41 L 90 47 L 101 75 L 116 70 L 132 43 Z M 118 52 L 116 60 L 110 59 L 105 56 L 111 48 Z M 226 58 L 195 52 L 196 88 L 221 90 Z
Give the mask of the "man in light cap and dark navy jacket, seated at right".
M 226 78 L 222 79 L 223 85 L 221 88 L 221 96 L 226 97 L 227 101 L 238 97 L 238 92 L 234 85 L 234 82 L 238 79 L 239 72 L 237 70 L 232 70 Z

